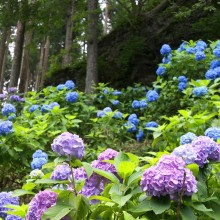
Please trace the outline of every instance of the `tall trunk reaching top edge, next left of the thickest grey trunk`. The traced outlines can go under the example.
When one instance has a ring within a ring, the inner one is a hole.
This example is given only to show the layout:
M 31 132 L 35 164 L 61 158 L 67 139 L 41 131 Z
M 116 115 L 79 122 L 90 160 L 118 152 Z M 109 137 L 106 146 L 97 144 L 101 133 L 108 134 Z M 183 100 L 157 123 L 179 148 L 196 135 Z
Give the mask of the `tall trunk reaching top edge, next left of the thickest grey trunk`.
M 63 56 L 63 67 L 68 66 L 72 61 L 72 44 L 73 44 L 73 14 L 74 14 L 75 0 L 70 0 L 67 9 L 67 22 L 66 22 L 66 36 L 65 36 L 65 51 Z

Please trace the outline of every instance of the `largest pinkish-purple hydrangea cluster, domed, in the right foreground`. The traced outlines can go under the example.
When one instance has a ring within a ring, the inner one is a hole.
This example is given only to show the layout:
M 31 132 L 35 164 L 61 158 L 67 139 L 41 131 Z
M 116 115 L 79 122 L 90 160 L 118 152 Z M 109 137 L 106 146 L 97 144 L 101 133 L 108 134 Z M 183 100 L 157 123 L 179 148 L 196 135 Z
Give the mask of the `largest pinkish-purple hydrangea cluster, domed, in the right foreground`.
M 183 159 L 175 155 L 163 155 L 156 166 L 145 170 L 140 183 L 148 196 L 170 195 L 171 199 L 178 198 L 182 192 L 191 196 L 197 192 L 196 184 L 192 172 L 185 168 Z

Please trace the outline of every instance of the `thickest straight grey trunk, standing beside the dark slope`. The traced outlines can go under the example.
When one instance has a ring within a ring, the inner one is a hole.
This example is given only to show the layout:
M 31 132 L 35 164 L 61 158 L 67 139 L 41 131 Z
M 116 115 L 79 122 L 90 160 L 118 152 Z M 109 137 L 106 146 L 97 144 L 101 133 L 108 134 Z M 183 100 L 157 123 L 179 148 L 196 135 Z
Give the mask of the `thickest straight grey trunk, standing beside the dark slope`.
M 85 92 L 91 93 L 92 86 L 98 83 L 98 1 L 88 0 L 88 40 L 87 40 L 87 69 Z

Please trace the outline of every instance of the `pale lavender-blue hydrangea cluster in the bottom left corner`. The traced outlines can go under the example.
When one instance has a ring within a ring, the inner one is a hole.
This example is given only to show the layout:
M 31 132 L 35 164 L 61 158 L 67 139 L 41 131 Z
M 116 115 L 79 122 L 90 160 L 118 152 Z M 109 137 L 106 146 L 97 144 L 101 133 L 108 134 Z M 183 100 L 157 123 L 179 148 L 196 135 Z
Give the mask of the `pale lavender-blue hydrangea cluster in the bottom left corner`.
M 0 218 L 6 218 L 9 208 L 5 205 L 19 205 L 18 197 L 12 197 L 12 192 L 1 192 L 0 193 Z

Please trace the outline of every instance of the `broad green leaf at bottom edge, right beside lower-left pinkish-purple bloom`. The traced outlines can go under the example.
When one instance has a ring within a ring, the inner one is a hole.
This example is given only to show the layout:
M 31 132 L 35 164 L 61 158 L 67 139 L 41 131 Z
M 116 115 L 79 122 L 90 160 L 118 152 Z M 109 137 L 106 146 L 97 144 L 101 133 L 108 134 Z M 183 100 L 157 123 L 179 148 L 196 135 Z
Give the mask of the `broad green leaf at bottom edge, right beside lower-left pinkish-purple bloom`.
M 52 206 L 43 213 L 42 220 L 59 220 L 70 213 L 72 209 L 73 207 L 64 204 Z

